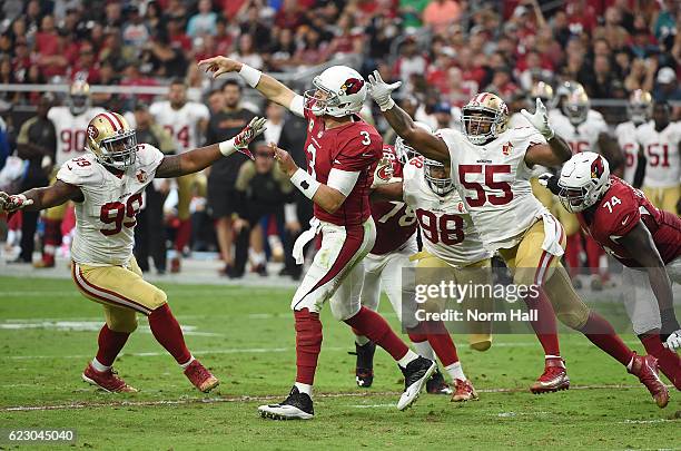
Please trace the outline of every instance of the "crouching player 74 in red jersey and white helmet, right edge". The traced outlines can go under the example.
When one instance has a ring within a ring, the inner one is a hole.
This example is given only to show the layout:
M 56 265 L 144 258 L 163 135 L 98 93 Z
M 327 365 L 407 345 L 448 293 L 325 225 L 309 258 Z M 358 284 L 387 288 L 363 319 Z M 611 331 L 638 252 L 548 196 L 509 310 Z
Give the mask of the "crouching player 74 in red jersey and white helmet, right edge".
M 542 178 L 563 207 L 576 213 L 582 229 L 624 265 L 626 311 L 634 332 L 681 390 L 681 361 L 672 351 L 681 347 L 681 327 L 670 282 L 670 276 L 681 282 L 681 219 L 610 175 L 608 160 L 599 154 L 578 154 L 560 177 Z

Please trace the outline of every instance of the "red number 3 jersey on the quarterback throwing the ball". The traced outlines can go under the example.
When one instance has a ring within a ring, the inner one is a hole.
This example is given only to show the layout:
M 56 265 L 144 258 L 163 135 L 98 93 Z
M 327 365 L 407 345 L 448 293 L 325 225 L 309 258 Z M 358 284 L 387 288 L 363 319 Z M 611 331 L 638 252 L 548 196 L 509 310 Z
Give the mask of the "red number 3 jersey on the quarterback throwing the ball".
M 326 185 L 332 168 L 359 171 L 355 187 L 340 208 L 332 214 L 315 204 L 315 217 L 339 226 L 363 224 L 372 215 L 368 199 L 373 180 L 371 168 L 383 157 L 383 138 L 359 116 L 328 130 L 324 120 L 308 109 L 305 109 L 305 118 L 308 121 L 305 141 L 307 171 L 317 182 Z

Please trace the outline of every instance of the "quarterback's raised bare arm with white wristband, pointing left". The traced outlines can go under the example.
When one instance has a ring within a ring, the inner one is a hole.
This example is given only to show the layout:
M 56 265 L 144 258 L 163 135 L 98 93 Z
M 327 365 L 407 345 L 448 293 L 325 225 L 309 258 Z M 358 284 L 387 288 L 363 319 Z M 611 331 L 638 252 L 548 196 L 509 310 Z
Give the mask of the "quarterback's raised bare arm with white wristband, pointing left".
M 198 65 L 205 67 L 207 72 L 213 72 L 213 78 L 218 78 L 223 73 L 236 72 L 248 86 L 260 91 L 268 100 L 288 108 L 297 116 L 303 116 L 303 97 L 275 78 L 248 65 L 226 57 L 204 59 Z

